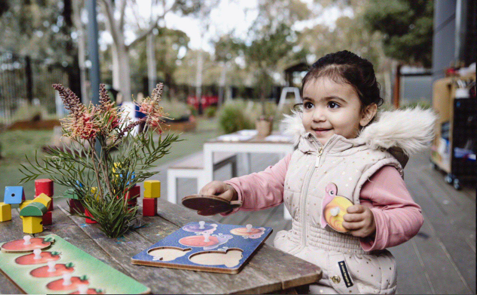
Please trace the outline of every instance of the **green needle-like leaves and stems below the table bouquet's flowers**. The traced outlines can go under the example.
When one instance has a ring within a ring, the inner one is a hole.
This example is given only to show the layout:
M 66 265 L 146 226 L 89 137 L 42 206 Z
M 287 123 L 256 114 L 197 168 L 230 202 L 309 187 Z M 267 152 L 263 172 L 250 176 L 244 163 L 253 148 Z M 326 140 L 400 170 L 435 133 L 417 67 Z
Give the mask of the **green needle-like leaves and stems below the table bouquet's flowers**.
M 156 174 L 150 169 L 154 167 L 154 162 L 170 152 L 170 145 L 178 141 L 178 135 L 160 136 L 157 143 L 152 132 L 147 136 L 129 135 L 124 138 L 125 144 L 118 153 L 104 150 L 99 155 L 99 158 L 104 159 L 104 169 L 97 165 L 97 159 L 93 161 L 96 155 L 91 146 L 84 146 L 77 139 L 73 141 L 78 143 L 78 147 L 71 145 L 69 148 L 73 149 L 72 152 L 49 148 L 49 156 L 44 161 L 39 160 L 36 154 L 34 161 L 27 157 L 28 165 L 20 164 L 20 171 L 25 175 L 20 183 L 34 181 L 45 175 L 54 183 L 70 187 L 65 194 L 73 194 L 82 200 L 83 206 L 93 216 L 90 218 L 100 224 L 108 237 L 124 234 L 136 219 L 137 210 L 137 206 L 128 208 L 124 194 L 137 183 Z M 85 156 L 82 157 L 82 154 Z M 83 214 L 79 215 L 84 217 Z

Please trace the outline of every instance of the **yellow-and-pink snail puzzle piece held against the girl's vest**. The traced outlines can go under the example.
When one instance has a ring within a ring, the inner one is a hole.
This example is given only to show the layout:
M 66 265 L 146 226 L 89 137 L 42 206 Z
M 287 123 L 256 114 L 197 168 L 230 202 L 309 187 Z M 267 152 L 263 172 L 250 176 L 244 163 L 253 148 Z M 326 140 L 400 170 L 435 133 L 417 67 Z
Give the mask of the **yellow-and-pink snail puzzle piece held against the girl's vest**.
M 353 203 L 347 198 L 337 195 L 337 192 L 336 184 L 328 183 L 326 185 L 325 195 L 321 201 L 321 228 L 328 224 L 335 231 L 345 233 L 348 230 L 343 227 L 343 215 Z

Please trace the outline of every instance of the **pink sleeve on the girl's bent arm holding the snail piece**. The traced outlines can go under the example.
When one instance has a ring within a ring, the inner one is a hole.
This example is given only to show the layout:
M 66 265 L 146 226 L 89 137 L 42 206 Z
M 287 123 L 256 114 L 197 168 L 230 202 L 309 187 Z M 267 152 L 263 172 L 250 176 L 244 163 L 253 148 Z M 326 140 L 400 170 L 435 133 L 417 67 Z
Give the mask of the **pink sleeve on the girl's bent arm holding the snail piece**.
M 421 207 L 416 204 L 399 172 L 384 166 L 363 185 L 361 204 L 371 208 L 376 223 L 373 238 L 361 238 L 364 251 L 382 250 L 409 240 L 421 228 Z

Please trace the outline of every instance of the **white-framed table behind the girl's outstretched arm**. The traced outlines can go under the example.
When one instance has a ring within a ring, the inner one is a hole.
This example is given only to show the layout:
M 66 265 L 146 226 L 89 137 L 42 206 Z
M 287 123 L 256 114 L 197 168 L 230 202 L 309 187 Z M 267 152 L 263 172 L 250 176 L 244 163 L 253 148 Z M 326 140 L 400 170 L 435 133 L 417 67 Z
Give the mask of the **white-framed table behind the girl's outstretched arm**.
M 241 132 L 246 132 L 241 134 Z M 213 155 L 217 152 L 234 152 L 244 153 L 246 155 L 245 163 L 242 167 L 246 168 L 245 174 L 250 171 L 250 153 L 278 153 L 285 156 L 288 153 L 293 153 L 295 145 L 290 142 L 290 139 L 279 134 L 274 133 L 271 136 L 260 139 L 257 136 L 247 136 L 248 130 L 241 130 L 239 132 L 226 134 L 217 138 L 204 142 L 204 175 L 201 177 L 203 183 L 197 183 L 199 187 L 203 187 L 207 183 L 214 180 L 213 170 Z M 288 210 L 284 209 L 283 218 L 291 219 Z

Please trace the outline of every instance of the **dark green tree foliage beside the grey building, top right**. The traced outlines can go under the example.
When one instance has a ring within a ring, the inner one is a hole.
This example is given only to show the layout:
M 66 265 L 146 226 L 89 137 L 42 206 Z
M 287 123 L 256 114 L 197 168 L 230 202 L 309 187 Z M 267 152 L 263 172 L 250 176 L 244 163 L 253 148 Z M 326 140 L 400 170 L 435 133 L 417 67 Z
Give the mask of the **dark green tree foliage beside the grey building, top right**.
M 370 0 L 366 27 L 381 32 L 384 53 L 407 63 L 432 65 L 433 0 Z

